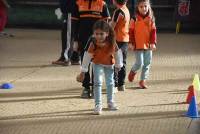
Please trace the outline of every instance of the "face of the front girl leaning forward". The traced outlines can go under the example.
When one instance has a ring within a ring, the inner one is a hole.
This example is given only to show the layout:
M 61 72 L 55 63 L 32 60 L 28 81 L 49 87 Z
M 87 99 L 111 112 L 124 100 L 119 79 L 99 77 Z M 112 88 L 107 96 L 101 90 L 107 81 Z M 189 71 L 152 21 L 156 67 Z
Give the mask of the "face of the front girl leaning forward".
M 94 37 L 95 37 L 97 43 L 103 43 L 106 40 L 107 36 L 108 36 L 108 33 L 102 31 L 101 29 L 96 29 L 94 31 Z

